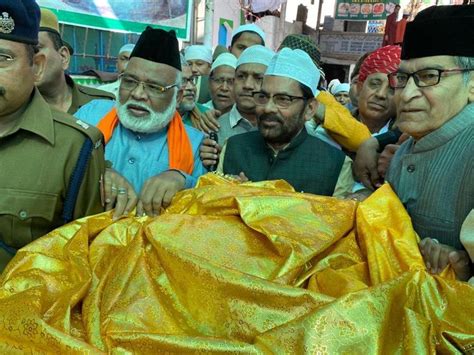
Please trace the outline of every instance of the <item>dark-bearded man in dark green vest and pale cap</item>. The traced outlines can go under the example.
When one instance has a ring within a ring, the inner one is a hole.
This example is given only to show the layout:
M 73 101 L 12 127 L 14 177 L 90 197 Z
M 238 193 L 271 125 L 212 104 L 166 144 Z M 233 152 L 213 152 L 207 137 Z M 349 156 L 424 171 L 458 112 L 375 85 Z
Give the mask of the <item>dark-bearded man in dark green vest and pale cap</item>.
M 258 131 L 230 137 L 218 171 L 242 180 L 284 179 L 297 191 L 345 196 L 354 182 L 350 159 L 305 129 L 318 106 L 318 73 L 302 50 L 283 48 L 274 55 L 261 89 L 253 93 Z

